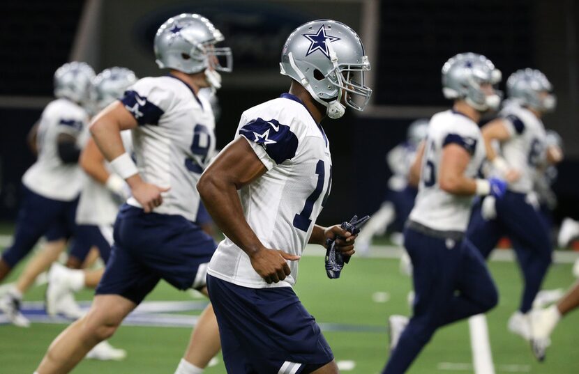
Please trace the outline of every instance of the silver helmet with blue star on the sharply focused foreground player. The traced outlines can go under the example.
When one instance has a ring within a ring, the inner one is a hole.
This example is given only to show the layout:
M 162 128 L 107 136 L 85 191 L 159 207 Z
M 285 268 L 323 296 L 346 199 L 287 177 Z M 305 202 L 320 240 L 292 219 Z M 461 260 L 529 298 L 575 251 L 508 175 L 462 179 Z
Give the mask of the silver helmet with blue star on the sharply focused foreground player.
M 364 85 L 368 56 L 356 31 L 331 20 L 317 20 L 295 29 L 283 46 L 280 73 L 299 82 L 326 107 L 329 118 L 340 118 L 345 107 L 363 111 L 372 95 Z M 361 99 L 354 102 L 353 95 Z

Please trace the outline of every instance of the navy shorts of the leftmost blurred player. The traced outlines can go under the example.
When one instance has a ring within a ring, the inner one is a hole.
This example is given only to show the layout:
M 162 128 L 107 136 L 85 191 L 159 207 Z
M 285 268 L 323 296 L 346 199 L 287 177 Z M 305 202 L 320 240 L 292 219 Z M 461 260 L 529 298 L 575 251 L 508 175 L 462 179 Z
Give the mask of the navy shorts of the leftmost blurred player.
M 75 232 L 75 216 L 78 198 L 73 201 L 52 200 L 45 198 L 27 187 L 16 219 L 16 231 L 13 244 L 2 254 L 10 267 L 22 260 L 43 235 L 47 239 L 68 238 Z

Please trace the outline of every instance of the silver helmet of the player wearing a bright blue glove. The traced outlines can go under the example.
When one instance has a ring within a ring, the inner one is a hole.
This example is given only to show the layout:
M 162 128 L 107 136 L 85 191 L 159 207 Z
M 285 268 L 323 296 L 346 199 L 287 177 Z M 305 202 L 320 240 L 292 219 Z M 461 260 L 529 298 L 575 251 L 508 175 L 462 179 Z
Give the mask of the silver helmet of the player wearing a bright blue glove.
M 498 84 L 502 79 L 500 70 L 485 56 L 476 53 L 460 53 L 442 66 L 442 93 L 447 99 L 464 99 L 479 111 L 497 109 L 501 103 L 499 91 L 486 95 L 482 84 Z

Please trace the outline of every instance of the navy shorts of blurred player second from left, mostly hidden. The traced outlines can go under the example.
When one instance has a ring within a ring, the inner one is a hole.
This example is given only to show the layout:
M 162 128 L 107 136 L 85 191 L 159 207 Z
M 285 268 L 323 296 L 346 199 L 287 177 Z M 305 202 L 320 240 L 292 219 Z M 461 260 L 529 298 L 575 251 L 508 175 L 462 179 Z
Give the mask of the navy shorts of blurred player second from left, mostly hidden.
M 111 244 L 112 226 L 77 225 L 75 241 L 69 254 L 83 262 L 91 248 L 97 247 L 100 258 L 107 263 Z

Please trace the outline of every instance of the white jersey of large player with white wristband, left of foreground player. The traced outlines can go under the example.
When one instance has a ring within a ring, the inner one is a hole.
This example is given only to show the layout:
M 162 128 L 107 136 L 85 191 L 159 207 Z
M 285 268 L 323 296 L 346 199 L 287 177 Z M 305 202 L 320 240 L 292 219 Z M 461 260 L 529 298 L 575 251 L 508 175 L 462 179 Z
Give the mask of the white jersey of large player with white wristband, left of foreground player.
M 140 79 L 121 102 L 139 123 L 131 131 L 141 178 L 171 187 L 154 212 L 196 221 L 201 201 L 195 186 L 215 149 L 209 102 L 172 75 Z M 141 208 L 135 198 L 128 203 Z

